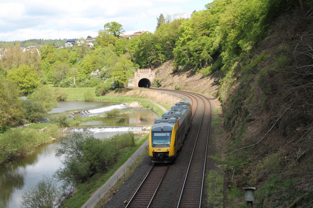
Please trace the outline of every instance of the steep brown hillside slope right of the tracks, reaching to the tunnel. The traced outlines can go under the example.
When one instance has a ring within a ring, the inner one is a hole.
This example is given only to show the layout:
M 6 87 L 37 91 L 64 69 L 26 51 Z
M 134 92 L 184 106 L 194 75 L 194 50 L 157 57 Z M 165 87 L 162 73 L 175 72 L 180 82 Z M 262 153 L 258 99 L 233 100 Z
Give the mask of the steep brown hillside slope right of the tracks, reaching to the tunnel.
M 281 15 L 223 80 L 218 73 L 175 73 L 172 60 L 155 69 L 161 88 L 219 100 L 224 133 L 217 162 L 229 181 L 234 172 L 233 188 L 256 187 L 254 207 L 313 207 L 312 21 L 312 8 Z M 239 198 L 228 207 L 244 205 Z

